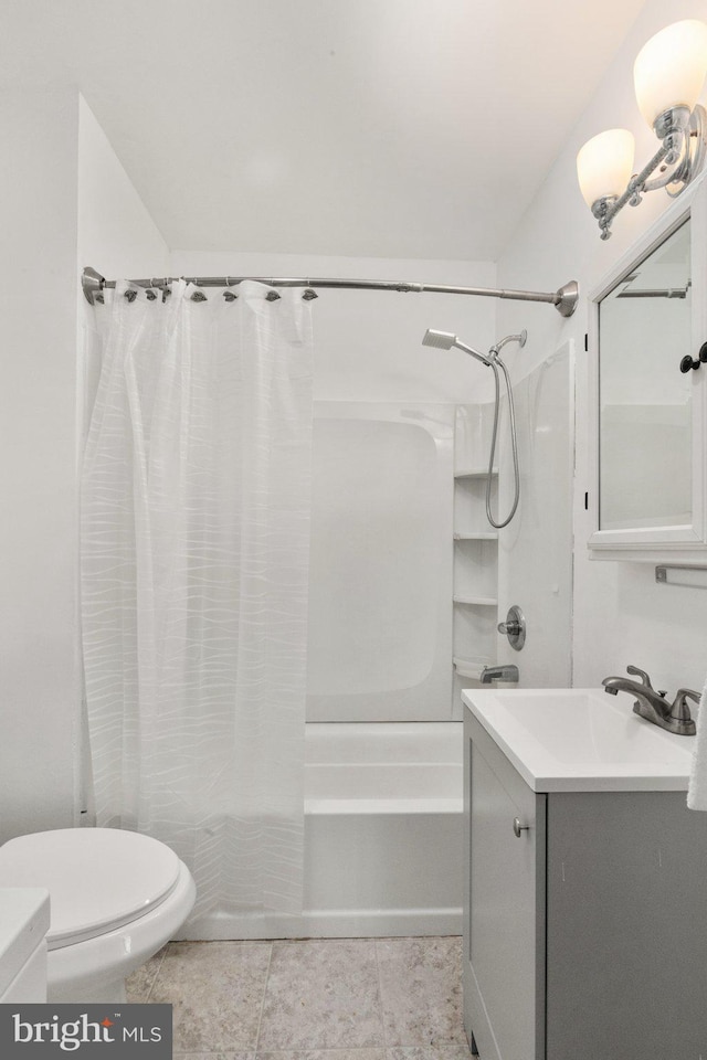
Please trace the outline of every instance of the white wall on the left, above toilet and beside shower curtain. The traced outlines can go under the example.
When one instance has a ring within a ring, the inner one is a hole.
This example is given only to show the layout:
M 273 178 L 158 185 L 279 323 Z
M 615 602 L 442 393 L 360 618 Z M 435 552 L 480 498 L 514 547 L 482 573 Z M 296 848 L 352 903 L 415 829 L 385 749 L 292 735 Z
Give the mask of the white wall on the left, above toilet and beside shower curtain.
M 70 827 L 82 804 L 77 278 L 84 264 L 158 273 L 168 258 L 75 89 L 0 96 L 0 138 L 3 841 Z

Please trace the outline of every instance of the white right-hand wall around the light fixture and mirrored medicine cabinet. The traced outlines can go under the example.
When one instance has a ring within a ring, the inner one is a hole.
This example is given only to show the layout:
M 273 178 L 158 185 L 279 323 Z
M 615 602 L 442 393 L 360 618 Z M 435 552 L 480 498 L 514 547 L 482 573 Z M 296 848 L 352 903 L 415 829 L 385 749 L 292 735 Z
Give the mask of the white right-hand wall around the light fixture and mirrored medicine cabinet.
M 547 309 L 540 314 L 534 307 L 510 303 L 503 303 L 499 310 L 502 331 L 524 326 L 529 331 L 526 350 L 513 359 L 517 377 L 526 374 L 563 339 L 576 340 L 573 682 L 577 686 L 597 685 L 606 675 L 623 672 L 625 666 L 633 662 L 648 670 L 656 687 L 674 690 L 687 685 L 699 690 L 707 668 L 707 593 L 657 585 L 651 564 L 590 561 L 587 539 L 591 512 L 585 512 L 583 506 L 584 491 L 591 486 L 588 362 L 583 353 L 587 295 L 671 200 L 662 191 L 653 192 L 637 209 L 626 208 L 614 222 L 612 237 L 602 242 L 579 192 L 574 159 L 587 139 L 615 126 L 634 132 L 636 168 L 652 156 L 655 138 L 644 126 L 633 95 L 633 60 L 648 36 L 683 18 L 707 20 L 707 2 L 673 0 L 668 8 L 658 0 L 648 0 L 645 4 L 498 266 L 498 282 L 504 287 L 548 288 L 549 285 L 548 289 L 553 289 L 574 278 L 582 290 L 581 305 L 569 320 Z

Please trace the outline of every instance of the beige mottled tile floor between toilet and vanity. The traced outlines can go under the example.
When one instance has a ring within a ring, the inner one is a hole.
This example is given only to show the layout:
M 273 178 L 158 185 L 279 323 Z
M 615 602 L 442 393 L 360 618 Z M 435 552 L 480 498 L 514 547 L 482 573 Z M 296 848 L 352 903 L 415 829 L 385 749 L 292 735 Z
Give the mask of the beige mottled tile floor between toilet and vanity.
M 128 1000 L 173 1005 L 180 1060 L 469 1060 L 457 937 L 171 942 Z

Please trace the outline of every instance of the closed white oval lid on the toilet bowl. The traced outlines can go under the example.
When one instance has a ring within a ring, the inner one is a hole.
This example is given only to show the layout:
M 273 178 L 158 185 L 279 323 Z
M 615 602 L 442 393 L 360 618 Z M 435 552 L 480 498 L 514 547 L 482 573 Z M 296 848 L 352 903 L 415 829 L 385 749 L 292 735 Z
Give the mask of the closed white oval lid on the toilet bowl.
M 179 859 L 150 836 L 116 828 L 57 828 L 0 847 L 0 887 L 45 887 L 50 950 L 129 923 L 177 886 Z

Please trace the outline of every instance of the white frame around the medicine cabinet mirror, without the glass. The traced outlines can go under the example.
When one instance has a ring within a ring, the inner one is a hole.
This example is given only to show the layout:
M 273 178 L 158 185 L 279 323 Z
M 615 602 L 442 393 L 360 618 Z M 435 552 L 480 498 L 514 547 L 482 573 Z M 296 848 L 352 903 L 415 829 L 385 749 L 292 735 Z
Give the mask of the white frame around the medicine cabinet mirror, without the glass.
M 707 180 L 705 173 L 622 255 L 589 295 L 589 453 L 593 532 L 588 541 L 592 560 L 707 565 L 707 364 L 692 371 L 692 487 L 693 520 L 671 527 L 599 528 L 599 304 L 632 269 L 687 219 L 690 219 L 690 274 L 693 284 L 690 333 L 693 357 L 707 340 Z M 678 371 L 676 359 L 675 370 Z

